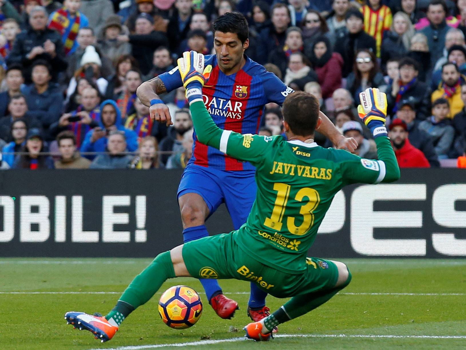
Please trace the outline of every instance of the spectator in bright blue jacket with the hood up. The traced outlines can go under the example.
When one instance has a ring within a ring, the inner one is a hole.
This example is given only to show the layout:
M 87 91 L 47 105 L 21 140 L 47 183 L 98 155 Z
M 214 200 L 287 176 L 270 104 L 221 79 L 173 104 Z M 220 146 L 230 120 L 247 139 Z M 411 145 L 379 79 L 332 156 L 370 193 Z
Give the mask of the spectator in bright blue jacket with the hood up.
M 107 150 L 108 135 L 114 130 L 123 131 L 128 151 L 137 150 L 136 132 L 123 126 L 117 103 L 113 100 L 105 100 L 100 105 L 99 126 L 87 132 L 81 146 L 81 152 L 105 152 Z

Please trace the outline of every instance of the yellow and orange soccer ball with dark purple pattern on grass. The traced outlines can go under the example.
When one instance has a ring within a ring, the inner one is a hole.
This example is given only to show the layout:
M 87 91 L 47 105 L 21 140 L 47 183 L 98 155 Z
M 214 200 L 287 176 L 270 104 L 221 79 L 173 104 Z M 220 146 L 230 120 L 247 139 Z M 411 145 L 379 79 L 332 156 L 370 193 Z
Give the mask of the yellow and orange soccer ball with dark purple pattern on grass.
M 201 317 L 201 298 L 194 289 L 186 286 L 168 288 L 158 301 L 158 313 L 171 328 L 189 328 Z

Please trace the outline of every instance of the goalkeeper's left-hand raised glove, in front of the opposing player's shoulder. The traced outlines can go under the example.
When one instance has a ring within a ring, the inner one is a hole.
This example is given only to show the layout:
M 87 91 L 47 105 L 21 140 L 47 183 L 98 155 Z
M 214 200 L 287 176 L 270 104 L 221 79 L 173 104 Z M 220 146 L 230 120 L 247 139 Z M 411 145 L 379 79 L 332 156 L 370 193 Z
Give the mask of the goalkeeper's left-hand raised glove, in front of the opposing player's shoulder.
M 204 55 L 196 51 L 183 52 L 183 58 L 178 58 L 177 62 L 189 103 L 202 101 L 202 87 L 209 79 L 212 65 L 204 68 Z

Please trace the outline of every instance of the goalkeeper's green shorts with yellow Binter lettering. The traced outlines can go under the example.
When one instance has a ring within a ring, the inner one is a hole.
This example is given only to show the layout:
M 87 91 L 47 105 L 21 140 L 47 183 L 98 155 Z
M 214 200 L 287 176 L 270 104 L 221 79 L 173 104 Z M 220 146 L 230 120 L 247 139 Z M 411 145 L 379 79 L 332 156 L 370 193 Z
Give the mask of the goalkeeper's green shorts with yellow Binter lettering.
M 260 289 L 278 298 L 335 287 L 338 269 L 332 261 L 305 258 L 306 270 L 297 271 L 296 274 L 283 272 L 262 264 L 242 250 L 234 240 L 235 233 L 233 231 L 185 243 L 183 259 L 190 275 L 196 278 L 234 278 L 254 282 Z

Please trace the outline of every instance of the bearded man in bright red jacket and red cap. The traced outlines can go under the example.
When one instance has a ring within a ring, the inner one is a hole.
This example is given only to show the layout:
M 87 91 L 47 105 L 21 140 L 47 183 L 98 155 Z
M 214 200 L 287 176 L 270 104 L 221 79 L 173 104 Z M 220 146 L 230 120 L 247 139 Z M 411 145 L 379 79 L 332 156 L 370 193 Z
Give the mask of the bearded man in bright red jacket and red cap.
M 424 153 L 414 147 L 408 139 L 408 127 L 403 120 L 395 118 L 389 127 L 395 156 L 400 168 L 430 168 L 431 165 Z

